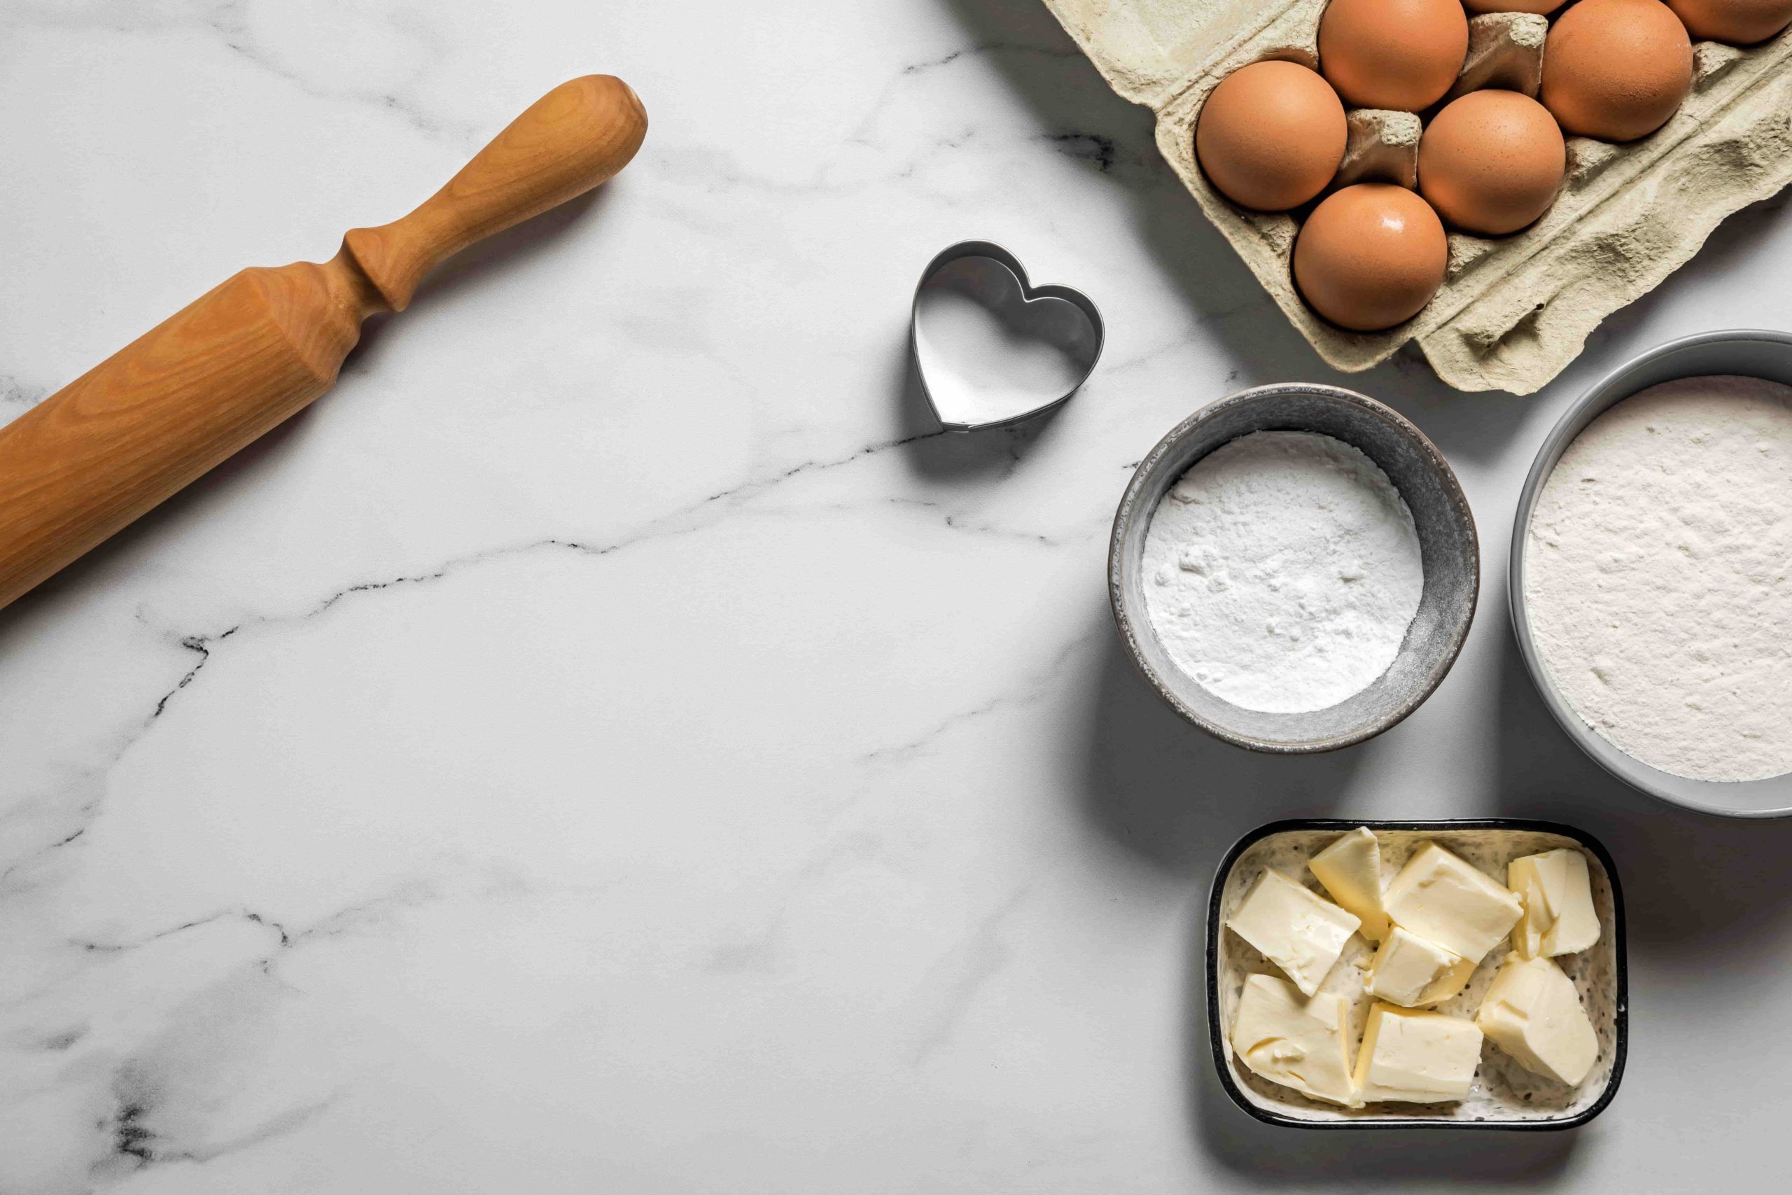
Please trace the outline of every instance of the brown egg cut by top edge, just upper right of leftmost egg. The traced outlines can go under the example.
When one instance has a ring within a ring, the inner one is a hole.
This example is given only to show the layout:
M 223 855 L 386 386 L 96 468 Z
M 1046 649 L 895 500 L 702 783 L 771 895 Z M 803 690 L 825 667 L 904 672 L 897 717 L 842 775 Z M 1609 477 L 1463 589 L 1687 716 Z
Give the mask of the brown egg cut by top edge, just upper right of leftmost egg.
M 1331 0 L 1319 18 L 1319 70 L 1351 107 L 1430 107 L 1466 57 L 1462 0 Z

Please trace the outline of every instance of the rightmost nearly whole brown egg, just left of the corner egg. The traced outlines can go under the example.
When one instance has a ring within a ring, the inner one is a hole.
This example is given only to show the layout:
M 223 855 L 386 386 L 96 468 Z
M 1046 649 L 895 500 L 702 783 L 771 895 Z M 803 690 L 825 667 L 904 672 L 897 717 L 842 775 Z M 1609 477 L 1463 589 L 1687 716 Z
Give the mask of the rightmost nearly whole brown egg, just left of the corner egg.
M 1692 90 L 1692 41 L 1661 0 L 1581 0 L 1543 43 L 1538 99 L 1568 133 L 1634 142 Z

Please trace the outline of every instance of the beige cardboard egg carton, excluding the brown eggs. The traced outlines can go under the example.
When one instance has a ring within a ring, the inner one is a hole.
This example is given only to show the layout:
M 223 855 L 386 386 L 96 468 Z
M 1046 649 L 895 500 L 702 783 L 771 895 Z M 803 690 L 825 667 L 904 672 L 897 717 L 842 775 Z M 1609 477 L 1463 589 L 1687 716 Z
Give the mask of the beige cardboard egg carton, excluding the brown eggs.
M 1679 269 L 1731 211 L 1792 181 L 1792 30 L 1749 48 L 1693 45 L 1693 88 L 1650 136 L 1627 145 L 1568 138 L 1555 204 L 1512 236 L 1450 233 L 1450 272 L 1414 319 L 1378 333 L 1319 319 L 1294 288 L 1299 224 L 1245 211 L 1195 165 L 1195 118 L 1220 79 L 1267 57 L 1315 66 L 1326 0 L 1045 0 L 1122 97 L 1158 116 L 1158 149 L 1276 305 L 1335 369 L 1357 373 L 1417 340 L 1460 391 L 1530 394 L 1588 333 Z M 1536 93 L 1543 18 L 1473 18 L 1459 90 Z M 1389 177 L 1412 122 L 1353 113 L 1346 170 Z M 1414 158 L 1416 161 L 1416 158 Z

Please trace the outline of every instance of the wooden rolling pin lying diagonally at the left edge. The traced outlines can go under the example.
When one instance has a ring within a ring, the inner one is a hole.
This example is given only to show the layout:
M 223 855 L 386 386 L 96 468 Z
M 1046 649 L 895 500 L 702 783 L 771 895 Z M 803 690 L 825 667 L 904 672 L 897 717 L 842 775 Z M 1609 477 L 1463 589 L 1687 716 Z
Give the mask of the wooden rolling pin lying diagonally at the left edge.
M 591 190 L 645 134 L 620 79 L 563 82 L 405 219 L 349 231 L 324 263 L 242 271 L 0 428 L 0 606 L 328 391 L 360 321 Z

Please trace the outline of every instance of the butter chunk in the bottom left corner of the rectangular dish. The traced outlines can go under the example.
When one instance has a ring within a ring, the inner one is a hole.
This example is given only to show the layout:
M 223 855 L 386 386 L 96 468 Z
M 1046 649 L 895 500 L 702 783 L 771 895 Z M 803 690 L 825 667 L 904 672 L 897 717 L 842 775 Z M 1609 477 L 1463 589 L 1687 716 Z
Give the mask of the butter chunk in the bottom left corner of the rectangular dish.
M 1321 993 L 1308 1000 L 1287 980 L 1253 975 L 1233 1018 L 1233 1050 L 1271 1082 L 1355 1107 L 1360 1100 L 1349 1070 L 1348 1019 L 1339 996 Z

